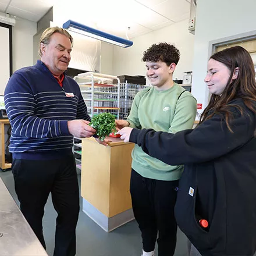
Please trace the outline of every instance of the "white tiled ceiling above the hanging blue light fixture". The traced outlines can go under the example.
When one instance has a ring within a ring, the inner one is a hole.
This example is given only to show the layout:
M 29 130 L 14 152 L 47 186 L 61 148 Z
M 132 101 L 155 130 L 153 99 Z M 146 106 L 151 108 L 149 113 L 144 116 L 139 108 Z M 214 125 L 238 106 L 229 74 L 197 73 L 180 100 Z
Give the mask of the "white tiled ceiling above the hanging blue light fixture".
M 1 12 L 32 22 L 38 22 L 52 6 L 54 12 L 55 6 L 62 6 L 65 21 L 93 24 L 120 37 L 126 37 L 127 32 L 129 38 L 190 17 L 190 0 L 0 0 Z

